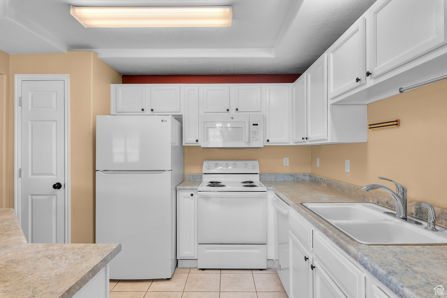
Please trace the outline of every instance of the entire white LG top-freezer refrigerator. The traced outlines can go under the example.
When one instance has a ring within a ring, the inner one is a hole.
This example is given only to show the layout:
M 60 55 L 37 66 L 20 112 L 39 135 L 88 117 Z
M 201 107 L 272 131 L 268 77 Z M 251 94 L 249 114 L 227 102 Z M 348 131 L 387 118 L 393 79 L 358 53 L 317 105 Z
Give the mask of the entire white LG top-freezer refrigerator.
M 97 116 L 96 243 L 121 243 L 110 279 L 170 278 L 177 264 L 181 123 L 172 116 Z

